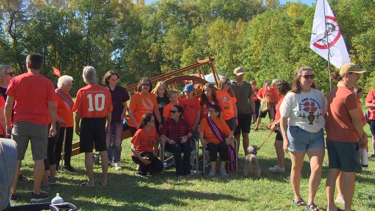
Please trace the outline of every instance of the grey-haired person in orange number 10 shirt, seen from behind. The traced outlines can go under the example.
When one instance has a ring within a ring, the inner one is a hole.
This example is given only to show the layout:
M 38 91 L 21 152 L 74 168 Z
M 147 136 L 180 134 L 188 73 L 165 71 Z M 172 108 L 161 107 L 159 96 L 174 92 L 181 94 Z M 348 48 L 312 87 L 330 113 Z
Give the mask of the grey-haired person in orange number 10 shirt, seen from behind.
M 111 93 L 98 84 L 96 70 L 92 66 L 83 68 L 83 80 L 87 86 L 78 90 L 72 109 L 75 112 L 75 133 L 80 136 L 80 152 L 85 153 L 86 172 L 89 176 L 89 181 L 81 186 L 95 187 L 92 160 L 94 143 L 95 150 L 99 151 L 102 157 L 103 177 L 100 184 L 108 185 L 106 137 L 110 133 L 113 110 Z

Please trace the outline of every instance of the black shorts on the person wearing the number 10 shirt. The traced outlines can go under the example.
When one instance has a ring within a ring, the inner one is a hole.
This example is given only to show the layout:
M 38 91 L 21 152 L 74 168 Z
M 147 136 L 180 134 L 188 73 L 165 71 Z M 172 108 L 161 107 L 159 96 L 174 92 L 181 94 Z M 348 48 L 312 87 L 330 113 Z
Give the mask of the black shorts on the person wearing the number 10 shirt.
M 83 118 L 81 121 L 80 152 L 107 151 L 106 118 Z

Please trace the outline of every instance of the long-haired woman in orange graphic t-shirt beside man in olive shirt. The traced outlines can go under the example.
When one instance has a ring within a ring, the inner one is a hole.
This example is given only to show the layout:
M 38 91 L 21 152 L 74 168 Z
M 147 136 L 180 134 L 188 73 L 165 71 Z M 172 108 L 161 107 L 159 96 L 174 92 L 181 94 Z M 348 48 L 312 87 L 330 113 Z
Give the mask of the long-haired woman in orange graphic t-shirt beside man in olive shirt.
M 219 87 L 217 87 L 216 96 L 219 99 L 222 107 L 224 110 L 223 113 L 223 120 L 228 125 L 229 129 L 231 129 L 232 134 L 238 125 L 238 118 L 237 118 L 237 99 L 234 96 L 234 92 L 231 87 L 231 81 L 229 78 L 222 77 L 219 81 Z

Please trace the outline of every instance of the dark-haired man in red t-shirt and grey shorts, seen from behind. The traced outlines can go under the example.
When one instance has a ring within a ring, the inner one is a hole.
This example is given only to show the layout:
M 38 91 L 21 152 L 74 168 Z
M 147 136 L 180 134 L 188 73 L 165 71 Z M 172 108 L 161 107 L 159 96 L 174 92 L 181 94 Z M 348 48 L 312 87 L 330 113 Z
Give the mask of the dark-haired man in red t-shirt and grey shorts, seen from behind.
M 26 57 L 27 72 L 10 80 L 8 95 L 5 103 L 4 116 L 6 121 L 6 133 L 17 143 L 17 170 L 13 180 L 12 201 L 19 200 L 17 194 L 17 181 L 20 174 L 21 160 L 24 159 L 31 142 L 31 152 L 34 160 L 34 192 L 30 202 L 40 202 L 48 199 L 48 194 L 40 191 L 44 173 L 44 159 L 47 158 L 48 136 L 55 136 L 56 125 L 52 121 L 48 134 L 48 118 L 56 119 L 56 94 L 51 80 L 39 74 L 43 66 L 43 57 L 38 53 L 28 54 Z M 14 104 L 13 130 L 10 126 L 10 113 Z

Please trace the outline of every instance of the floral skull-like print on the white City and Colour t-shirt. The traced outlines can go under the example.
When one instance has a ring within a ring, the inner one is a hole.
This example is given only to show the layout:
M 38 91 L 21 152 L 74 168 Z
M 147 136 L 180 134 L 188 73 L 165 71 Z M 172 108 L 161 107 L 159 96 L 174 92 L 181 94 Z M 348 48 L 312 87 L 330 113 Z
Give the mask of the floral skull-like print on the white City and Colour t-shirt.
M 318 109 L 321 109 L 321 106 L 314 98 L 302 99 L 302 102 L 299 103 L 298 109 L 299 111 L 302 111 L 302 113 L 300 112 L 298 116 L 309 121 L 309 125 L 314 124 L 315 118 L 319 120 L 319 116 L 323 116 L 323 113 L 319 113 L 319 111 L 317 111 Z M 305 112 L 307 112 L 307 114 Z M 317 113 L 315 114 L 315 112 Z

